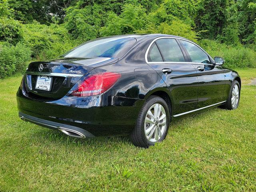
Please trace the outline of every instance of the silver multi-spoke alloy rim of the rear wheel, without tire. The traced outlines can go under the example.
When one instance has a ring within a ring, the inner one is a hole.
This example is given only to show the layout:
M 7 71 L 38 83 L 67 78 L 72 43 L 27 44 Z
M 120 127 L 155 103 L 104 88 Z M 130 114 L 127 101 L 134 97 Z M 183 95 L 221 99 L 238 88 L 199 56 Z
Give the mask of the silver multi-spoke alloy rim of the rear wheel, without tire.
M 157 103 L 152 105 L 145 118 L 144 133 L 150 142 L 157 142 L 166 130 L 166 112 L 164 107 Z

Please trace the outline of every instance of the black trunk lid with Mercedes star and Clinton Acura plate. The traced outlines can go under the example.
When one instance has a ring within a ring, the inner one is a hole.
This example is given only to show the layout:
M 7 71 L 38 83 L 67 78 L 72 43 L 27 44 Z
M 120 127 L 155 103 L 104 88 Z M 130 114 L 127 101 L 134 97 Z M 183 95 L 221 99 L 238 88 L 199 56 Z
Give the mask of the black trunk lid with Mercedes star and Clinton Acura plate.
M 118 58 L 58 58 L 31 62 L 24 76 L 25 90 L 30 98 L 59 99 L 90 70 L 117 61 Z

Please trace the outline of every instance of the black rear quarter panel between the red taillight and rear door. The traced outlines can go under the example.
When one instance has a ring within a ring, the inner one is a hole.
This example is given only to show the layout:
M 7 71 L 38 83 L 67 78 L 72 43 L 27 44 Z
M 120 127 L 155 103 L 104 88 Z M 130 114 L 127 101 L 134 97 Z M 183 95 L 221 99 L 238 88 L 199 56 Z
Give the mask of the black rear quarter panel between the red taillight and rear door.
M 118 72 L 121 78 L 108 91 L 113 96 L 146 100 L 153 92 L 166 90 L 162 78 L 146 62 L 118 62 L 101 69 Z

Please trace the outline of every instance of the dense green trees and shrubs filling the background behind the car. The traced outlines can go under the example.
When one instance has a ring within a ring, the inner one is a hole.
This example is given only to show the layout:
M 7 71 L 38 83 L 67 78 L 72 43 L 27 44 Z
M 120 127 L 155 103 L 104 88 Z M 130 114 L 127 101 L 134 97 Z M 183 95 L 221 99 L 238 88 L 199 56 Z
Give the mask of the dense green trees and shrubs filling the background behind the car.
M 0 0 L 0 78 L 101 36 L 163 33 L 256 67 L 256 0 Z

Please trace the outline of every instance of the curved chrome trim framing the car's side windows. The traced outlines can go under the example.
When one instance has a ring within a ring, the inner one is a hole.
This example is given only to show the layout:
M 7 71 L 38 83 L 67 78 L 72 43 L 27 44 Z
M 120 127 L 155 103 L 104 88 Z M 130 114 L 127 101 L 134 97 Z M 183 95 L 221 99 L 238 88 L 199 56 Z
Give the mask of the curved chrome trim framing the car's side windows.
M 195 44 L 194 42 L 188 40 L 188 39 L 183 39 L 183 38 L 178 38 L 178 37 L 158 37 L 158 38 L 155 38 L 148 46 L 147 50 L 146 50 L 146 53 L 145 53 L 145 60 L 146 60 L 146 63 L 147 64 L 155 64 L 155 63 L 191 63 L 191 64 L 203 64 L 203 65 L 206 65 L 207 63 L 196 63 L 196 62 L 148 62 L 148 52 L 149 52 L 149 49 L 151 48 L 152 44 L 158 40 L 158 39 L 165 39 L 165 38 L 168 38 L 168 39 L 179 39 L 179 40 L 184 40 L 184 41 L 187 41 L 187 42 L 190 42 L 192 44 L 194 44 L 195 46 L 198 46 L 203 52 L 205 52 L 212 60 L 213 58 L 202 48 L 200 47 L 199 45 Z M 213 64 L 207 64 L 207 65 L 213 65 Z

